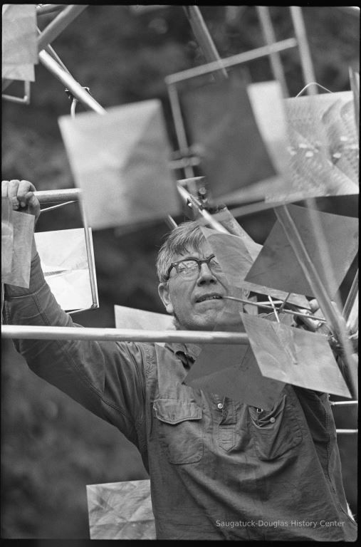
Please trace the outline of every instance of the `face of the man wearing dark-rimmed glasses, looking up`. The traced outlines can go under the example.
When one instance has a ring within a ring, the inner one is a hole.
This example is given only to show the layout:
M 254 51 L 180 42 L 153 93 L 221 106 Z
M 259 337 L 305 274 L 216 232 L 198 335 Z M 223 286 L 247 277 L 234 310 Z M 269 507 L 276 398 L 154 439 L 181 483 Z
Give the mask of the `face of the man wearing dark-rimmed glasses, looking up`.
M 189 249 L 179 255 L 174 262 L 182 259 L 207 259 L 211 250 L 204 243 L 199 249 Z M 229 295 L 229 287 L 223 274 L 214 274 L 208 264 L 201 265 L 192 278 L 183 278 L 173 267 L 169 281 L 159 284 L 159 296 L 167 313 L 175 316 L 178 328 L 183 330 L 213 330 L 222 325 L 222 312 L 231 301 L 223 297 Z

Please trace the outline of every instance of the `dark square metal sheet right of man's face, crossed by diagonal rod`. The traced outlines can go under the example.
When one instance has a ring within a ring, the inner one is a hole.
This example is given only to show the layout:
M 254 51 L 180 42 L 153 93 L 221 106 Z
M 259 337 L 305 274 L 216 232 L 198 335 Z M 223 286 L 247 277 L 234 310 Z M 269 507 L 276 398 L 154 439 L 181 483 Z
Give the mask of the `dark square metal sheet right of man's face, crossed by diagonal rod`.
M 326 291 L 333 298 L 357 254 L 358 219 L 297 205 L 288 205 L 288 211 Z M 248 271 L 246 281 L 315 297 L 278 221 Z

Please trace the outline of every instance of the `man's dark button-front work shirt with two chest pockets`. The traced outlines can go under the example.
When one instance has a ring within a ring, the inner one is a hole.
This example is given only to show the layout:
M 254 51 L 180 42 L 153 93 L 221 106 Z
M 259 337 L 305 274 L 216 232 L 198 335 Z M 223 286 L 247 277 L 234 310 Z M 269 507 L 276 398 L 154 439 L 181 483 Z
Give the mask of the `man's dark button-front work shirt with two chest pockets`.
M 11 324 L 79 327 L 32 261 Z M 327 394 L 286 385 L 271 411 L 183 380 L 197 345 L 17 340 L 34 373 L 120 429 L 150 474 L 159 539 L 355 541 Z

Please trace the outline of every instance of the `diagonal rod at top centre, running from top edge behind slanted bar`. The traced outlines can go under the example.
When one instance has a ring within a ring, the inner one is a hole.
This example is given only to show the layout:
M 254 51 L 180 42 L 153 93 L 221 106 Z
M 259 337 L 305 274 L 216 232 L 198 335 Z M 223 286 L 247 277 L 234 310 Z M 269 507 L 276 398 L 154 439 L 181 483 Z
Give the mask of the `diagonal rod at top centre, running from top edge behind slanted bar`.
M 187 18 L 192 26 L 194 36 L 196 37 L 197 42 L 202 49 L 206 61 L 208 63 L 214 61 L 215 59 L 219 61 L 219 70 L 214 72 L 214 78 L 220 77 L 221 80 L 223 80 L 224 78 L 228 78 L 226 69 L 222 66 L 221 58 L 219 57 L 218 51 L 216 50 L 216 46 L 214 46 L 214 42 L 211 38 L 209 30 L 204 23 L 204 19 L 201 11 L 199 10 L 199 7 L 183 6 L 183 8 L 187 14 Z

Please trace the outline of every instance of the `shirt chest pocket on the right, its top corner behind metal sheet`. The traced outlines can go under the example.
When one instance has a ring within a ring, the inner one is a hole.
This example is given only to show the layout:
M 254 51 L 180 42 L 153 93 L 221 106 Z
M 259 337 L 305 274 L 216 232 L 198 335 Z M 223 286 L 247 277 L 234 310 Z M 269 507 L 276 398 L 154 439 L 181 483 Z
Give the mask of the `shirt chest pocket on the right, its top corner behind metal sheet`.
M 302 441 L 302 430 L 295 408 L 286 395 L 272 410 L 248 407 L 251 431 L 259 459 L 276 459 Z

